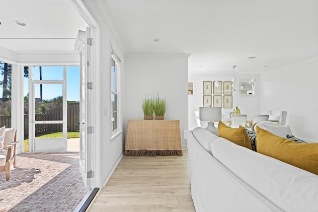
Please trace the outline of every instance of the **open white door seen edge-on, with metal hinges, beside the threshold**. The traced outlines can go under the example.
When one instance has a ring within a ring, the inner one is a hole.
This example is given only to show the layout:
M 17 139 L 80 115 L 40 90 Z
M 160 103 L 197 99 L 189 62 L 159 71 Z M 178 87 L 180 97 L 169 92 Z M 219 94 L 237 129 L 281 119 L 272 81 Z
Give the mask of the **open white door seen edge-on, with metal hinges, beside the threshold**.
M 80 55 L 80 103 L 79 103 L 79 170 L 86 189 L 94 188 L 94 85 L 93 85 L 93 30 L 79 31 L 76 48 Z

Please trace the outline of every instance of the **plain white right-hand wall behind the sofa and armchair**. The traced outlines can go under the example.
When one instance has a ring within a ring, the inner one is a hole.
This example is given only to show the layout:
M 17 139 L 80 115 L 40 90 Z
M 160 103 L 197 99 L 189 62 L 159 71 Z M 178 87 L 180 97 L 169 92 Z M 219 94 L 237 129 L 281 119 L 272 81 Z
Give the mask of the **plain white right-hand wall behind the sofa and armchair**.
M 261 107 L 288 112 L 294 136 L 318 141 L 318 58 L 261 74 Z

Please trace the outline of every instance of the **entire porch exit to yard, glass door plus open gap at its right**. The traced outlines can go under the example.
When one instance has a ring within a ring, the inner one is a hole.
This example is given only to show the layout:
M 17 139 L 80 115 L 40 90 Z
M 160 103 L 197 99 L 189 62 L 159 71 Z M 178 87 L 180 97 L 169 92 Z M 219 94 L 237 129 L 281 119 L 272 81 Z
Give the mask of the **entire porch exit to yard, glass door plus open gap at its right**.
M 78 152 L 79 67 L 25 67 L 24 83 L 24 151 Z

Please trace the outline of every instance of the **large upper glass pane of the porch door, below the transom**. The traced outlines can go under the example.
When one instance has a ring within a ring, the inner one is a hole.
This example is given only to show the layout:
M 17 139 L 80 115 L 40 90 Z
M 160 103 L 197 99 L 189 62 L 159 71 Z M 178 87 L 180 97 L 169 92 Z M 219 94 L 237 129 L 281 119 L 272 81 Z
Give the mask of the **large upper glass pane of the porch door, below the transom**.
M 63 85 L 35 84 L 35 120 L 63 120 Z

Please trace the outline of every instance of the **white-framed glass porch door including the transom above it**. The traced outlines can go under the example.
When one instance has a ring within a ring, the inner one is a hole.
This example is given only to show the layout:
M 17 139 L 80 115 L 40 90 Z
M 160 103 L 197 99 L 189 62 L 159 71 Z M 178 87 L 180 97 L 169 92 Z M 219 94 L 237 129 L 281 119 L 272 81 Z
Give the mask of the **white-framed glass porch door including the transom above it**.
M 29 150 L 66 151 L 66 67 L 34 66 L 29 70 Z

